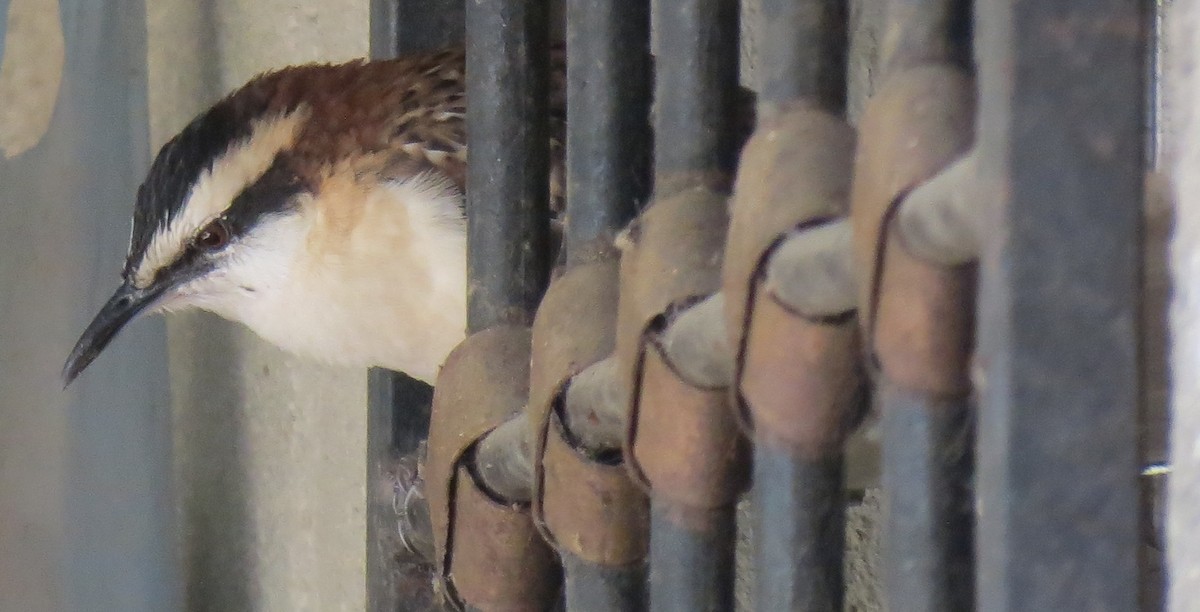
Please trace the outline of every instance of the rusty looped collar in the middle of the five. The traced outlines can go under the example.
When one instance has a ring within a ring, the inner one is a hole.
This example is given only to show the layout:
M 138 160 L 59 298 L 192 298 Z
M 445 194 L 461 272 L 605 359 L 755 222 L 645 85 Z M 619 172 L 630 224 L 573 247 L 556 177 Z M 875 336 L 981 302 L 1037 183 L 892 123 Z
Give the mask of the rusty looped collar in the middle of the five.
M 746 480 L 727 389 L 684 380 L 658 344 L 673 313 L 720 288 L 726 223 L 725 196 L 688 190 L 656 202 L 623 245 L 617 358 L 630 389 L 625 461 L 636 481 L 672 506 L 731 504 Z

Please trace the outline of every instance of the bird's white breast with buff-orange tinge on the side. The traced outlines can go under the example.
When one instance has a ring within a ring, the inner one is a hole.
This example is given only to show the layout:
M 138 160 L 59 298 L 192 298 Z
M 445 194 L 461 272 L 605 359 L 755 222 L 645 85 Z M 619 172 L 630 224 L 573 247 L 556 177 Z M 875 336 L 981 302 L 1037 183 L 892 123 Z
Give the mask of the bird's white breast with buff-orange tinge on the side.
M 432 383 L 466 331 L 461 196 L 419 178 L 329 181 L 318 198 L 247 236 L 229 281 L 250 290 L 202 306 L 286 350 Z

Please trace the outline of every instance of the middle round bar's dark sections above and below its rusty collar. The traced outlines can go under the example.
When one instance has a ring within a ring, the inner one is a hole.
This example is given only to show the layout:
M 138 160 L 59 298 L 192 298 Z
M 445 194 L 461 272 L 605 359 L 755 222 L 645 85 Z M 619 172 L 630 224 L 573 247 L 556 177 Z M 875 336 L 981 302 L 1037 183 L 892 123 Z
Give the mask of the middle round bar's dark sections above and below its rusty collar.
M 738 2 L 676 0 L 655 17 L 655 198 L 692 186 L 728 188 L 737 160 Z M 732 610 L 736 506 L 679 508 L 654 496 L 650 515 L 652 608 Z

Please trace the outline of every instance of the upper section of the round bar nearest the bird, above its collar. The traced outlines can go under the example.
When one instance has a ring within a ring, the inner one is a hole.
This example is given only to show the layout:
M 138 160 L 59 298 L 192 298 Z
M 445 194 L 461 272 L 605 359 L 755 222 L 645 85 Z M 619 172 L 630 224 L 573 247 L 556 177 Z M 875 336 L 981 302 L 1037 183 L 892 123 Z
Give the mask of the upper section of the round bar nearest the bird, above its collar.
M 467 7 L 467 328 L 529 325 L 550 278 L 547 2 Z

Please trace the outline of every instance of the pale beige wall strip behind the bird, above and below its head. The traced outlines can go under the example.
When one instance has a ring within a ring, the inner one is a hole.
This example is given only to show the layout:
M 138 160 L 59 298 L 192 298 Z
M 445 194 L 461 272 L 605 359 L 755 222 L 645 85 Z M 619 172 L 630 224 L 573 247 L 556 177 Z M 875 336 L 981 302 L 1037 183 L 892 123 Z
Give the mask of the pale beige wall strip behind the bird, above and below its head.
M 367 0 L 148 2 L 155 149 L 254 74 L 367 53 Z M 188 610 L 362 610 L 366 372 L 168 317 Z

